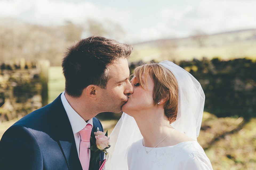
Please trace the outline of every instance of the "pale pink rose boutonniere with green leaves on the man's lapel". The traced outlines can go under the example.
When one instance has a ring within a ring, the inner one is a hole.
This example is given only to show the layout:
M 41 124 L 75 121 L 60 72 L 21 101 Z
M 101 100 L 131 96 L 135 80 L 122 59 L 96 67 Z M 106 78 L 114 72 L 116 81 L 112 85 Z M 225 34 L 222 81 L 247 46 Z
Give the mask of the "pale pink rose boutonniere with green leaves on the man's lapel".
M 96 159 L 96 162 L 97 162 L 101 152 L 104 152 L 106 155 L 108 154 L 106 149 L 110 148 L 110 145 L 109 145 L 109 138 L 107 137 L 107 132 L 106 133 L 101 132 L 99 131 L 99 128 L 97 128 L 97 132 L 94 132 L 94 135 L 95 135 L 95 138 L 91 137 L 90 142 L 94 143 L 95 145 L 91 146 L 88 149 L 94 151 L 92 160 Z

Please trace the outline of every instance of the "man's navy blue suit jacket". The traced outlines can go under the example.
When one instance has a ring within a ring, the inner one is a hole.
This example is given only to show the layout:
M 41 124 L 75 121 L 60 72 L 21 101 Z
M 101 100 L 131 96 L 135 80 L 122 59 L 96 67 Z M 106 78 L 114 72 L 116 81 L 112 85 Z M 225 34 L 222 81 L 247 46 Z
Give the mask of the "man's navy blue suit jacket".
M 97 118 L 95 128 L 103 131 Z M 91 145 L 93 145 L 91 143 Z M 98 170 L 91 151 L 89 170 Z M 24 116 L 3 134 L 0 141 L 0 170 L 82 170 L 74 134 L 59 95 L 52 103 Z

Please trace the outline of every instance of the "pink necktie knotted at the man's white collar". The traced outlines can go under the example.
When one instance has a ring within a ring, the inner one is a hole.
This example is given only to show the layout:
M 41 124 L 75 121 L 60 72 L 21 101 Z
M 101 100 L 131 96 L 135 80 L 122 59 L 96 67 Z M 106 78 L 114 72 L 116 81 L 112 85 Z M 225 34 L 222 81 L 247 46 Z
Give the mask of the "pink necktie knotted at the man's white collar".
M 90 154 L 88 147 L 90 146 L 91 137 L 91 124 L 87 124 L 85 128 L 79 131 L 81 136 L 80 150 L 79 150 L 79 160 L 81 162 L 83 170 L 89 169 L 90 164 Z

